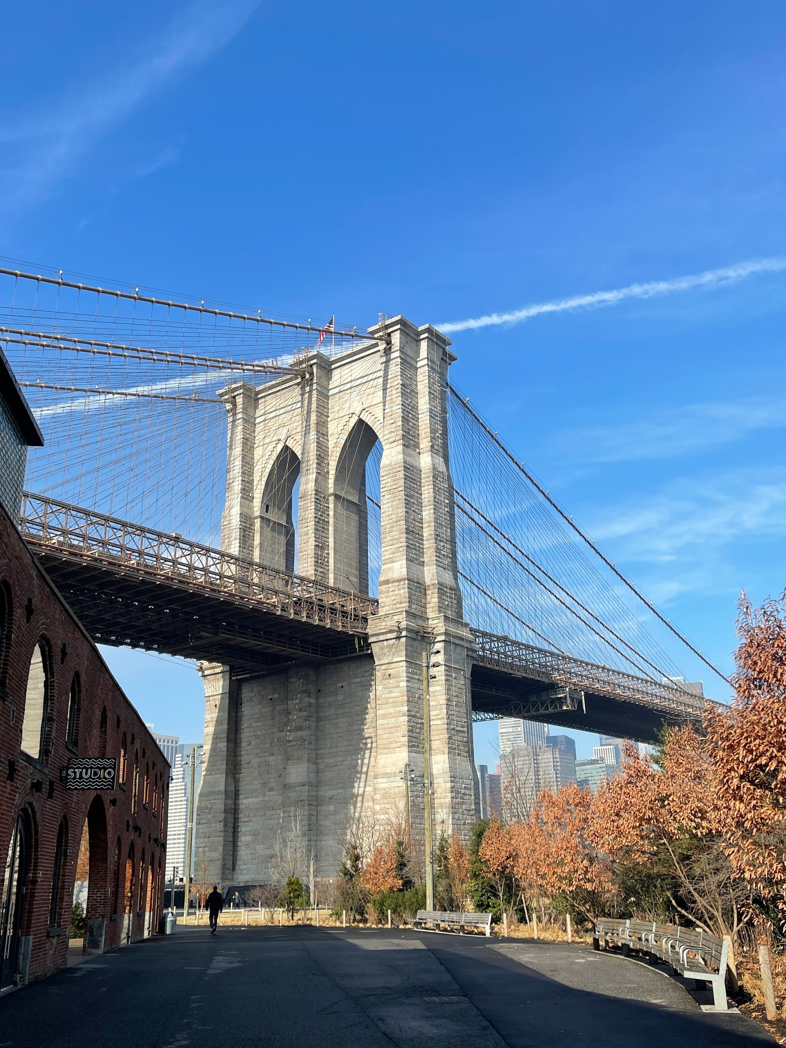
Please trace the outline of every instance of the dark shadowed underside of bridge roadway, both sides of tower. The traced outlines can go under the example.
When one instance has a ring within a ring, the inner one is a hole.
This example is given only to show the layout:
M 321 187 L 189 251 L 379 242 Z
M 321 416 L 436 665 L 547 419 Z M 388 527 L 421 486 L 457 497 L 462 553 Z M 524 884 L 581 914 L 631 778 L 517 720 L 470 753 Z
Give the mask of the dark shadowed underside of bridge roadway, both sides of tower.
M 141 648 L 220 662 L 248 678 L 299 663 L 369 658 L 364 635 L 288 618 L 232 596 L 166 577 L 144 577 L 84 556 L 38 548 L 39 560 L 90 636 L 112 647 Z M 549 681 L 475 664 L 473 711 L 519 716 L 563 727 L 657 742 L 679 714 L 625 697 L 584 692 L 575 708 L 543 709 Z M 546 690 L 546 691 L 544 691 Z

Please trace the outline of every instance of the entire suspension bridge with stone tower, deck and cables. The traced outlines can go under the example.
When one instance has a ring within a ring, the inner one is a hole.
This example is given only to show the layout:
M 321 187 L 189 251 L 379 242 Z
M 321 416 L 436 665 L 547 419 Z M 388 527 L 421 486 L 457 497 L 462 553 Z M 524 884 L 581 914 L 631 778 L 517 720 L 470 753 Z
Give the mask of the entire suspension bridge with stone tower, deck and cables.
M 325 873 L 353 820 L 407 795 L 417 825 L 410 771 L 466 831 L 473 719 L 654 742 L 700 719 L 699 680 L 727 692 L 457 389 L 435 327 L 0 280 L 45 435 L 23 533 L 97 642 L 199 660 L 217 880 L 258 880 L 296 810 Z

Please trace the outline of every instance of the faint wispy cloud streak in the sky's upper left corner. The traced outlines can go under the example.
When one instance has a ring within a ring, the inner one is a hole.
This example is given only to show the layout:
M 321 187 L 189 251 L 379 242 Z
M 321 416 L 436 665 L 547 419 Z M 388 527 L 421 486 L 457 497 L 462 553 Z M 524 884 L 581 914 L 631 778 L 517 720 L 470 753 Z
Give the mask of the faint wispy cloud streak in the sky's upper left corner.
M 110 74 L 41 100 L 16 123 L 0 127 L 0 210 L 5 217 L 45 199 L 72 174 L 103 135 L 189 69 L 220 50 L 259 0 L 195 0 L 134 60 Z

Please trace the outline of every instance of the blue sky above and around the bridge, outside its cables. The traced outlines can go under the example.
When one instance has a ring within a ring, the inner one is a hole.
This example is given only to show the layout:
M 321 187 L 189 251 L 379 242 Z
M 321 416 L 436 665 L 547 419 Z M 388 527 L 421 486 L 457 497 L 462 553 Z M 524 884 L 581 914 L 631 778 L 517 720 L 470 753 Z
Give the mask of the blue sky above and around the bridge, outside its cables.
M 9 258 L 361 327 L 786 255 L 780 3 L 43 2 L 4 42 Z M 740 589 L 786 575 L 784 292 L 773 264 L 452 334 L 454 381 L 725 671 Z M 199 736 L 192 670 L 107 655 Z

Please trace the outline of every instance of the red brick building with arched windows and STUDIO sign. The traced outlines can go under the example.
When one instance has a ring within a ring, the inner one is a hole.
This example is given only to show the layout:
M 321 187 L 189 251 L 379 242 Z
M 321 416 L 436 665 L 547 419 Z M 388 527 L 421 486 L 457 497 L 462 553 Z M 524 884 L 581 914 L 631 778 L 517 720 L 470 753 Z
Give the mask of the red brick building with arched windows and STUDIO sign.
M 94 788 L 111 759 L 114 788 Z M 168 791 L 166 758 L 0 503 L 0 991 L 65 965 L 80 851 L 86 952 L 157 932 Z

